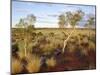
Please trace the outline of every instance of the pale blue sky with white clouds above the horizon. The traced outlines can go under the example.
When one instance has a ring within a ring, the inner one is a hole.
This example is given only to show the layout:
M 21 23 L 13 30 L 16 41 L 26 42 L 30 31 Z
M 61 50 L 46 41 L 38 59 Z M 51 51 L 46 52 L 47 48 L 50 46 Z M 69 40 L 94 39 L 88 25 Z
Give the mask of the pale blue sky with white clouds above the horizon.
M 37 3 L 25 1 L 12 1 L 12 27 L 29 14 L 36 16 L 36 28 L 57 28 L 58 16 L 67 11 L 76 11 L 81 9 L 85 14 L 95 15 L 95 6 L 69 5 L 54 3 Z M 86 19 L 86 17 L 84 18 Z M 82 22 L 81 26 L 84 23 Z

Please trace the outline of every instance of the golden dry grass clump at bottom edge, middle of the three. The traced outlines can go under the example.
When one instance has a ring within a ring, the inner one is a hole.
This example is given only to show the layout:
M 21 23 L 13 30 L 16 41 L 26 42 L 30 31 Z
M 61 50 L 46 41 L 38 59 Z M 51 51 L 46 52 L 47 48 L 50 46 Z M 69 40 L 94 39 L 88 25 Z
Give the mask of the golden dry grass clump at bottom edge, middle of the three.
M 34 72 L 39 72 L 40 66 L 41 66 L 40 57 L 37 55 L 34 55 L 33 57 L 30 57 L 28 59 L 28 64 L 27 64 L 26 68 L 30 73 L 34 73 Z

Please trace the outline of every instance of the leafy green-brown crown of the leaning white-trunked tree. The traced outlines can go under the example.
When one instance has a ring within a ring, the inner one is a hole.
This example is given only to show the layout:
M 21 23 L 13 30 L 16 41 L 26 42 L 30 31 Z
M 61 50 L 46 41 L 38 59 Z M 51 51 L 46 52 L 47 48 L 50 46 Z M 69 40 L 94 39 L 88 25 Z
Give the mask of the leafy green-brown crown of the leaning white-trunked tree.
M 64 27 L 67 23 L 70 23 L 73 27 L 83 18 L 84 12 L 81 10 L 77 10 L 75 12 L 66 12 L 65 14 L 61 14 L 59 16 L 59 26 Z

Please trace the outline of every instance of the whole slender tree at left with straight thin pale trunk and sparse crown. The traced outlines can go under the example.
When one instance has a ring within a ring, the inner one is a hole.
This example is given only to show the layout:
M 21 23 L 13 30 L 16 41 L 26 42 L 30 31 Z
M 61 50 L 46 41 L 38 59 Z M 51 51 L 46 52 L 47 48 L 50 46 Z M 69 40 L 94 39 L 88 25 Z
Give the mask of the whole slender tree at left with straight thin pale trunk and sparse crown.
M 23 33 L 23 40 L 20 40 L 20 44 L 24 47 L 24 55 L 27 55 L 27 49 L 29 48 L 29 42 L 32 41 L 31 37 L 32 37 L 32 31 L 34 28 L 34 23 L 36 22 L 36 17 L 33 14 L 27 15 L 26 18 L 21 18 L 19 23 L 16 24 L 16 27 L 18 29 L 22 29 L 22 31 L 20 33 Z M 22 36 L 22 35 L 21 35 Z

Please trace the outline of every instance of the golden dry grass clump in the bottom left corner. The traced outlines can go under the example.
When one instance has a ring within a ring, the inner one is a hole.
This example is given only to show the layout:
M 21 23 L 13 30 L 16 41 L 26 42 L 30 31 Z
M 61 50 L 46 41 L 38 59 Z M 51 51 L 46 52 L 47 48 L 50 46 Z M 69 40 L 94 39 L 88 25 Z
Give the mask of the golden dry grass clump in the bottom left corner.
M 12 59 L 12 73 L 20 73 L 23 70 L 23 65 L 20 60 L 18 59 Z

